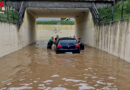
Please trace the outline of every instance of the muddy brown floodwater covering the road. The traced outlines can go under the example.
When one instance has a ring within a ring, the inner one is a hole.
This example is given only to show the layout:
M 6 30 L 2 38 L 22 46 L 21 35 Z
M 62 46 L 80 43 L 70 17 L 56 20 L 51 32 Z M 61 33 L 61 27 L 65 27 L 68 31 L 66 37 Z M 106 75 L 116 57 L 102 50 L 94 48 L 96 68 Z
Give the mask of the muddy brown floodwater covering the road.
M 130 90 L 130 63 L 90 47 L 55 54 L 45 45 L 0 58 L 0 90 Z

